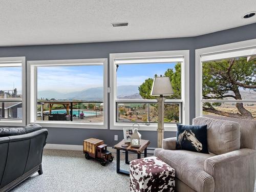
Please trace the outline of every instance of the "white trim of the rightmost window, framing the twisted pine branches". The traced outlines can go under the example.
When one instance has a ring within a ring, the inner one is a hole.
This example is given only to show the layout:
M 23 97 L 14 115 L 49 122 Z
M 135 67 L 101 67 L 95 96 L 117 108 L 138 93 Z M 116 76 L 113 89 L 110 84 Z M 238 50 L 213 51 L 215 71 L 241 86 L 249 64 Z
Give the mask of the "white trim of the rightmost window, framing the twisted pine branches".
M 202 62 L 206 60 L 216 60 L 232 57 L 242 57 L 253 54 L 248 50 L 256 48 L 256 39 L 233 42 L 220 46 L 196 49 L 195 57 L 195 83 L 196 83 L 196 117 L 202 116 Z M 248 54 L 249 52 L 249 54 Z M 218 102 L 234 102 L 229 100 L 211 99 L 208 101 Z M 243 100 L 243 102 L 251 102 L 252 100 Z

